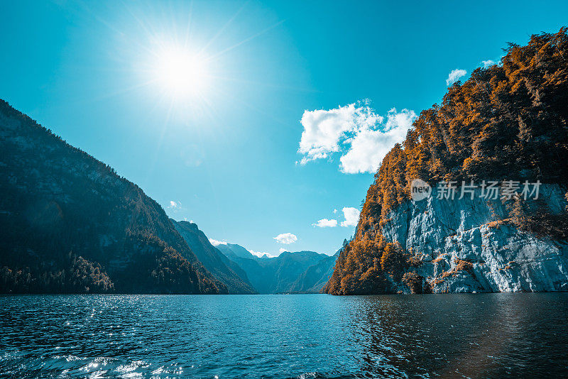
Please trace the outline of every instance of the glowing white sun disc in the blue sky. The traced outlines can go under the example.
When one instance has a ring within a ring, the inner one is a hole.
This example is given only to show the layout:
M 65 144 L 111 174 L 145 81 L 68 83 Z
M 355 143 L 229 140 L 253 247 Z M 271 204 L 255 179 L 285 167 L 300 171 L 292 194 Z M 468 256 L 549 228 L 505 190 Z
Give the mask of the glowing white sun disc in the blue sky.
M 175 98 L 201 96 L 209 84 L 207 60 L 184 46 L 155 53 L 154 80 Z

